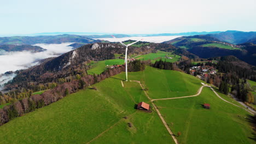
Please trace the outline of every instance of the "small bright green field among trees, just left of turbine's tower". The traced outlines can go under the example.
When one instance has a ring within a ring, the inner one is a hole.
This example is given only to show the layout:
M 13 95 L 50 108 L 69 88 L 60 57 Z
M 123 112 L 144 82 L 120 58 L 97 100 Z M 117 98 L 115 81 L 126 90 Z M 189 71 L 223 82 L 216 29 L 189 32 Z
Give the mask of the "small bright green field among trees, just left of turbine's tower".
M 93 74 L 101 74 L 107 65 L 119 65 L 124 64 L 124 59 L 108 59 L 104 61 L 98 61 L 98 62 L 91 62 L 89 65 L 92 65 L 92 68 L 87 70 L 87 73 L 89 75 Z

